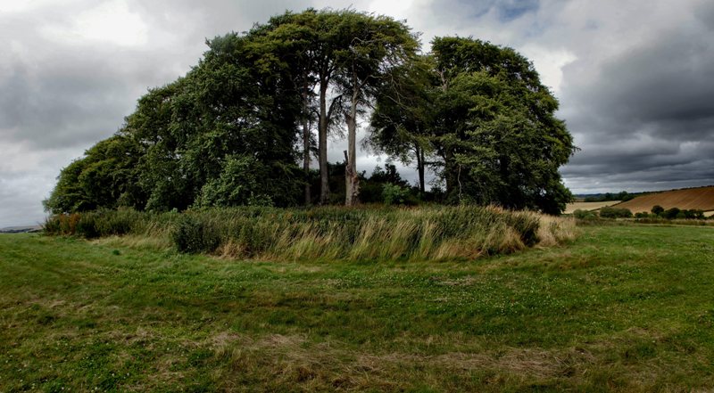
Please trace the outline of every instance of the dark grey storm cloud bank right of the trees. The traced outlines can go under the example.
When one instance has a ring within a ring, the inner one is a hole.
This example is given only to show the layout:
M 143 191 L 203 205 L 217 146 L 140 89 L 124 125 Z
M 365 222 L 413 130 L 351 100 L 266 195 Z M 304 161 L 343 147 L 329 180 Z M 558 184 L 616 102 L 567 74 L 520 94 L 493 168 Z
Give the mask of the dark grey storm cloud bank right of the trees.
M 702 11 L 714 14 L 714 4 L 690 9 L 696 18 Z M 565 68 L 563 116 L 583 149 L 562 169 L 571 182 L 714 183 L 710 27 L 664 24 L 659 30 L 658 39 L 625 43 L 632 47 L 599 65 L 585 64 L 596 61 L 594 53 Z

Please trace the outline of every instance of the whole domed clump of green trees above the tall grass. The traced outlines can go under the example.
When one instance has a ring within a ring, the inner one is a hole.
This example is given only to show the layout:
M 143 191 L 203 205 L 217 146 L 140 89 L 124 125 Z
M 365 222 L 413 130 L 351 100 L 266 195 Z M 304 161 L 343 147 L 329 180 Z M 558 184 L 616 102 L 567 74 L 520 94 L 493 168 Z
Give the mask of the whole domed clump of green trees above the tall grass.
M 335 175 L 346 205 L 369 201 L 360 119 L 365 145 L 415 164 L 420 197 L 428 168 L 451 203 L 560 213 L 572 198 L 558 168 L 576 148 L 558 102 L 511 48 L 437 37 L 423 54 L 402 21 L 313 9 L 207 45 L 185 77 L 150 90 L 115 135 L 62 169 L 46 209 L 326 204 Z M 345 131 L 345 162 L 331 165 L 328 136 Z

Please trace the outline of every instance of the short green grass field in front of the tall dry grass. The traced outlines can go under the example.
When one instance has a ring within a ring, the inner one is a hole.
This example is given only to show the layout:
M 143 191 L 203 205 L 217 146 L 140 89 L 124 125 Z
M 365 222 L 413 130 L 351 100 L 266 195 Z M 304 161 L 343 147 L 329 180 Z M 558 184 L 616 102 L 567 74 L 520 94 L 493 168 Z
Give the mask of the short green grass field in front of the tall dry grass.
M 0 392 L 714 389 L 714 228 L 472 262 L 0 235 Z

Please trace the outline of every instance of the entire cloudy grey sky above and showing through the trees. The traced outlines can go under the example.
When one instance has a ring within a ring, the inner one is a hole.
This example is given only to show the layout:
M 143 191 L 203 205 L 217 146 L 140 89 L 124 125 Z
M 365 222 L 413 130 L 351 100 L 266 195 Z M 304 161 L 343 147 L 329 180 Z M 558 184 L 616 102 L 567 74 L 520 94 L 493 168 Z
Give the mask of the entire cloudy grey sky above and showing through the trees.
M 0 227 L 44 221 L 60 170 L 185 75 L 206 38 L 307 7 L 406 20 L 425 51 L 458 35 L 527 56 L 580 148 L 560 168 L 573 192 L 714 184 L 711 1 L 0 0 Z M 358 169 L 385 162 L 360 151 Z

